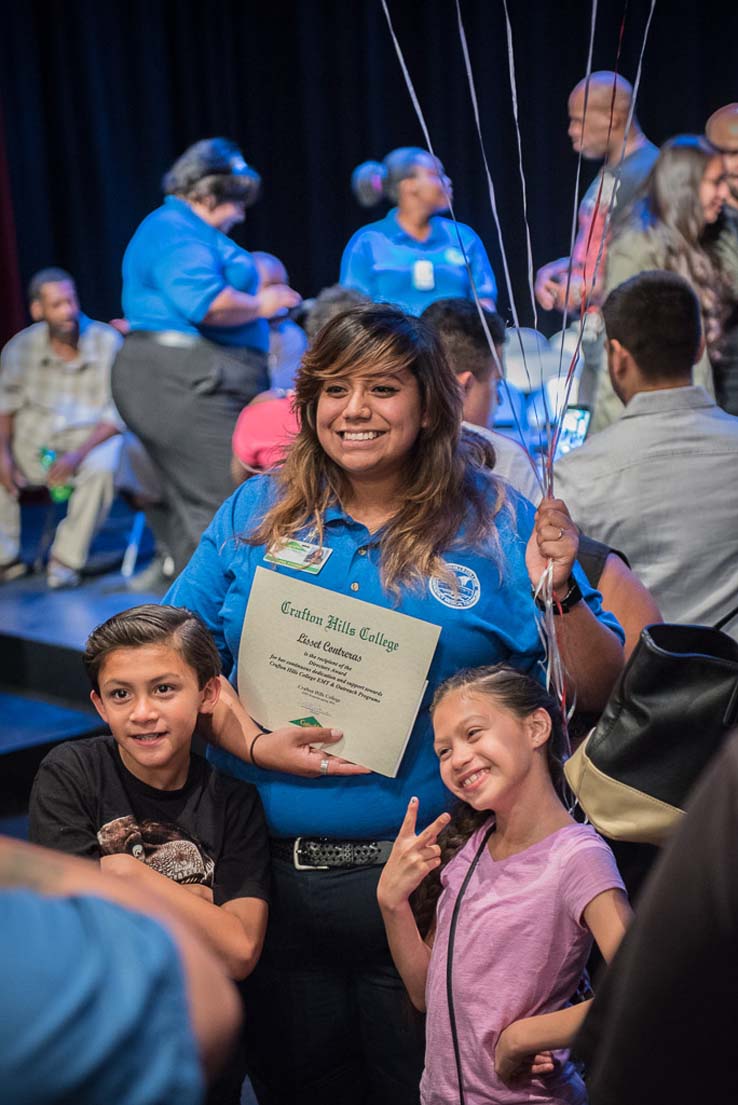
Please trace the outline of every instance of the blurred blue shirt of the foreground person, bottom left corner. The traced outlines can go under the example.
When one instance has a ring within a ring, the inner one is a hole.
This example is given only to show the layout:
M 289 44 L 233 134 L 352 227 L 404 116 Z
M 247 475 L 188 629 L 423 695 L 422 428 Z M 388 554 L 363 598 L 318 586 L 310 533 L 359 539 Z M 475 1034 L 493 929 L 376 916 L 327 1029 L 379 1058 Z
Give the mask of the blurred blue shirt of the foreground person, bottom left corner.
M 199 1105 L 179 954 L 97 897 L 0 890 L 0 1096 L 13 1105 Z

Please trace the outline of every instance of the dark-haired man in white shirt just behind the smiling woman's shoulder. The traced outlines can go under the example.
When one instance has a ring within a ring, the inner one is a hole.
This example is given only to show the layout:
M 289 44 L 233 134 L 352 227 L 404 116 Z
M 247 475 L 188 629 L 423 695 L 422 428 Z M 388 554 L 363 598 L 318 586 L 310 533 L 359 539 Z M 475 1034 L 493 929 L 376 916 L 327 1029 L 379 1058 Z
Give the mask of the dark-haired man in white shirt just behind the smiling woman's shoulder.
M 533 459 L 516 441 L 488 430 L 503 387 L 505 323 L 494 311 L 484 311 L 495 348 L 493 354 L 479 312 L 470 299 L 436 299 L 421 318 L 435 332 L 449 365 L 456 373 L 464 399 L 464 422 L 492 442 L 495 472 L 531 503 L 540 499 Z

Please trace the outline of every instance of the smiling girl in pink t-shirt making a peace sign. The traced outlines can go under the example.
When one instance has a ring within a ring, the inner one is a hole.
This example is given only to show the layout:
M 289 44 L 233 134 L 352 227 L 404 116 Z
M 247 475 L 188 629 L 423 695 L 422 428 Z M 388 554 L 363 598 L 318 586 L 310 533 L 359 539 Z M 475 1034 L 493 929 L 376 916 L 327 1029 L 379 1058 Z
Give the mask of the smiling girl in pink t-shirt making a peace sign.
M 592 937 L 609 960 L 630 906 L 610 849 L 559 797 L 558 706 L 497 665 L 452 676 L 431 712 L 441 776 L 463 804 L 415 834 L 410 800 L 377 892 L 428 1012 L 421 1101 L 582 1105 L 567 1049 L 589 1002 L 569 999 Z

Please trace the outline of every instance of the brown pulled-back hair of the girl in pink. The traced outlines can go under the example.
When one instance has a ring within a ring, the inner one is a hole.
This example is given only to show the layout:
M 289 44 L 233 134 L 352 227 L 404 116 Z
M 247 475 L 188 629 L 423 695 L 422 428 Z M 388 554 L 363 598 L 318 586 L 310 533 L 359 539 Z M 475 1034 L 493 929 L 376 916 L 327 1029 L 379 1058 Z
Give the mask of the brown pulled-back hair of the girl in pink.
M 439 703 L 452 691 L 467 694 L 487 695 L 503 709 L 523 720 L 537 709 L 545 709 L 551 718 L 551 734 L 546 741 L 548 769 L 551 781 L 559 793 L 563 791 L 563 748 L 566 737 L 561 724 L 561 711 L 554 698 L 536 680 L 524 672 L 505 664 L 488 667 L 467 667 L 445 680 L 436 690 L 431 703 L 431 716 Z M 435 907 L 441 896 L 441 872 L 461 851 L 470 836 L 489 819 L 489 810 L 472 809 L 460 802 L 452 819 L 439 835 L 441 866 L 426 875 L 410 898 L 418 928 L 423 938 L 433 929 Z

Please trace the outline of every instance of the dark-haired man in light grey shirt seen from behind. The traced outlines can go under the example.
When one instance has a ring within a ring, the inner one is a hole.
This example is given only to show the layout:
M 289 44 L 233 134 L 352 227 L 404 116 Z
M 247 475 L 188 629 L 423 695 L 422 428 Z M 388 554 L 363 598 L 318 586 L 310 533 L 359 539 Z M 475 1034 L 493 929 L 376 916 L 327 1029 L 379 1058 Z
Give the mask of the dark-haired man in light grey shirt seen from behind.
M 682 276 L 654 271 L 614 288 L 602 314 L 625 410 L 561 457 L 558 494 L 584 533 L 623 550 L 667 621 L 713 624 L 738 601 L 738 418 L 693 386 L 699 304 Z

